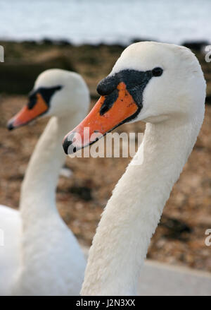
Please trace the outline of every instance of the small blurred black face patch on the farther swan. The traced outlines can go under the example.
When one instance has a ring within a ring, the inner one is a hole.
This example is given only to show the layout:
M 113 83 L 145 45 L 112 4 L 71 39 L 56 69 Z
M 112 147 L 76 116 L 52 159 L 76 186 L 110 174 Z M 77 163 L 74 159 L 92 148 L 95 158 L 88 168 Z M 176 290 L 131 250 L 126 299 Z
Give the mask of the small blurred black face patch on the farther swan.
M 56 91 L 60 90 L 62 88 L 62 86 L 58 85 L 55 87 L 51 87 L 51 88 L 38 88 L 36 91 L 32 91 L 32 93 L 30 93 L 29 95 L 29 102 L 27 104 L 28 109 L 32 109 L 34 107 L 34 105 L 36 105 L 37 102 L 37 93 L 41 94 L 41 97 L 43 97 L 43 99 L 46 102 L 46 105 L 48 105 L 50 107 L 50 101 L 51 101 L 51 97 L 53 96 L 54 93 L 56 93 Z

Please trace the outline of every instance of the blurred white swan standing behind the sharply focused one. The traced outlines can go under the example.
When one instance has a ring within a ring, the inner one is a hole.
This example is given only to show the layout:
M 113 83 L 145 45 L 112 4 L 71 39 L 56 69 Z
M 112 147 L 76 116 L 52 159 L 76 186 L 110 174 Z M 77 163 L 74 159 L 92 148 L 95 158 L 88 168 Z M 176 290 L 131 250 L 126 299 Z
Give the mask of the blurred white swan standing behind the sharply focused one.
M 52 117 L 27 167 L 20 212 L 0 208 L 5 243 L 0 246 L 0 294 L 79 294 L 84 256 L 58 214 L 55 190 L 65 162 L 63 136 L 88 108 L 89 90 L 82 77 L 51 69 L 40 74 L 29 102 L 8 122 L 8 129 L 14 129 L 37 117 Z

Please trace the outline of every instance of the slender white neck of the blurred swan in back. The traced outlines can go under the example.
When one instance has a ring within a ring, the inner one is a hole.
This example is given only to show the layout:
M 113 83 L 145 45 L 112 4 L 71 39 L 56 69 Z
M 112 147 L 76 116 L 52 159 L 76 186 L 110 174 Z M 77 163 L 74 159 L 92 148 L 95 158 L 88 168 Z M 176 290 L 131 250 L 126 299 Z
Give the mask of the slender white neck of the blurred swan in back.
M 23 228 L 32 227 L 36 220 L 58 213 L 56 185 L 60 167 L 65 162 L 62 141 L 65 133 L 81 121 L 82 116 L 52 117 L 30 158 L 20 196 Z

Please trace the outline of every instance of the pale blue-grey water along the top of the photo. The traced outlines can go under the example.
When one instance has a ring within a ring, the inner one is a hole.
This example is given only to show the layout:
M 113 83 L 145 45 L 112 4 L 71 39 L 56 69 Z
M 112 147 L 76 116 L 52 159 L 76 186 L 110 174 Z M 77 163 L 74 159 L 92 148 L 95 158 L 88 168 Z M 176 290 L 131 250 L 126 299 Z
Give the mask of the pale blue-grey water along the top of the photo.
M 0 39 L 210 41 L 210 14 L 210 0 L 0 0 Z

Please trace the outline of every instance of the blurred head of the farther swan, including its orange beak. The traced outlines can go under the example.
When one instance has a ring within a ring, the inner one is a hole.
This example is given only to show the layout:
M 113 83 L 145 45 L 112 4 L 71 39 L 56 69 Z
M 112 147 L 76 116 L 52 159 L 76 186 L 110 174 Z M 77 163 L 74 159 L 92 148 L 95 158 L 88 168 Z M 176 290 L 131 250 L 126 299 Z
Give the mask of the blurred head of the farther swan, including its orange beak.
M 49 69 L 34 83 L 25 105 L 8 121 L 15 129 L 39 117 L 65 117 L 75 113 L 86 115 L 89 109 L 89 90 L 83 78 L 70 71 Z

